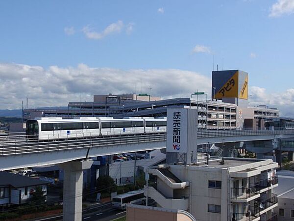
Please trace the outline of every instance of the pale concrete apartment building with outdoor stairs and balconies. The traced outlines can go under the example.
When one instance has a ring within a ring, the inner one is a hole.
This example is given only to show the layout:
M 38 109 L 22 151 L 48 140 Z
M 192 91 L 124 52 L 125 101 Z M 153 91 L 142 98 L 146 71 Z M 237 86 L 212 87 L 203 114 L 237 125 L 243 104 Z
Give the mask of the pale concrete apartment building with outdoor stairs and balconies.
M 215 158 L 150 167 L 145 195 L 197 221 L 274 221 L 278 186 L 272 160 Z

